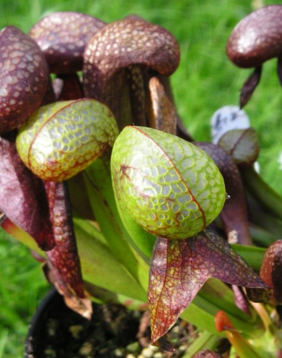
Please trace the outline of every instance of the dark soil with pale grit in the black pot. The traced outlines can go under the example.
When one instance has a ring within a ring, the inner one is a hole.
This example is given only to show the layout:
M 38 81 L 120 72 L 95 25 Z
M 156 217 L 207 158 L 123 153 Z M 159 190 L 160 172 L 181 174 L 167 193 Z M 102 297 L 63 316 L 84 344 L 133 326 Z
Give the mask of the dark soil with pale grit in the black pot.
M 93 304 L 89 321 L 67 308 L 57 294 L 51 297 L 44 310 L 42 307 L 39 310 L 41 318 L 39 323 L 32 323 L 26 358 L 176 358 L 182 356 L 189 341 L 195 338 L 193 327 L 179 321 L 169 334 L 170 341 L 178 349 L 175 353 L 167 353 L 150 345 L 145 347 L 150 342 L 150 329 L 146 327 L 143 312 L 118 305 Z M 138 332 L 139 340 L 136 338 Z

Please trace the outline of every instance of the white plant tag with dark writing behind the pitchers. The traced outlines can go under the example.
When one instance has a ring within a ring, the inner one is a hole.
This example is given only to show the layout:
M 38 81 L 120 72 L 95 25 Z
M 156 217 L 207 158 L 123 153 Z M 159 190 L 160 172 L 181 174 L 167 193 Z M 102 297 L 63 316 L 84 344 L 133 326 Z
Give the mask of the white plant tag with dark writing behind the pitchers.
M 239 106 L 224 106 L 219 108 L 210 119 L 212 142 L 217 144 L 220 137 L 231 129 L 250 127 L 249 117 Z

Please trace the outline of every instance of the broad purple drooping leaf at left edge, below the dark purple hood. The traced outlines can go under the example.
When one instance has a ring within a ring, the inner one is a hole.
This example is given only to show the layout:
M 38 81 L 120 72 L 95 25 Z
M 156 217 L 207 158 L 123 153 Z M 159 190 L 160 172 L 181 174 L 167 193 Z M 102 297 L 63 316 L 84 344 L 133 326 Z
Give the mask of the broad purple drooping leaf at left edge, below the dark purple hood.
M 29 233 L 40 248 L 50 250 L 54 246 L 53 233 L 39 186 L 17 154 L 15 133 L 0 137 L 0 211 Z

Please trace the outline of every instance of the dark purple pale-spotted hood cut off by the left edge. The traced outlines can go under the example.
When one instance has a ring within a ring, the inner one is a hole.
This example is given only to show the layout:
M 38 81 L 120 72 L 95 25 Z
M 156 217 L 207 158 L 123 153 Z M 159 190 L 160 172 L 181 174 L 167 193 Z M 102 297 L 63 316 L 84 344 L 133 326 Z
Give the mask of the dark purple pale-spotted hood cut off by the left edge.
M 6 133 L 39 107 L 49 73 L 37 43 L 14 26 L 0 31 L 0 63 L 0 133 Z

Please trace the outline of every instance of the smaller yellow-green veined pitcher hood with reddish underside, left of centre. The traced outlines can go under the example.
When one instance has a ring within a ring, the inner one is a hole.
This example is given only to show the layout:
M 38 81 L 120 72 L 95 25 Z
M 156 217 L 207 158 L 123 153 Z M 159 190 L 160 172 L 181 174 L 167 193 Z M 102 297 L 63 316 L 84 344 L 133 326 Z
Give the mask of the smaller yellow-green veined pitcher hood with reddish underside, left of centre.
M 20 129 L 21 160 L 45 180 L 63 181 L 111 148 L 117 127 L 110 110 L 83 99 L 40 107 Z

